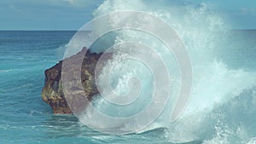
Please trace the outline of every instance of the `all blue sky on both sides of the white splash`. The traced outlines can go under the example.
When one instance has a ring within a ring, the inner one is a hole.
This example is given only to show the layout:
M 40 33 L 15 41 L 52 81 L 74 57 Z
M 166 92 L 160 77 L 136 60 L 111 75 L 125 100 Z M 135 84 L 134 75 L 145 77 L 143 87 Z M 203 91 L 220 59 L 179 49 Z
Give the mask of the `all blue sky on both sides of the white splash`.
M 159 0 L 160 3 L 162 0 Z M 172 0 L 164 0 L 170 2 Z M 256 29 L 256 0 L 183 0 L 212 3 L 234 29 Z M 103 0 L 1 0 L 0 30 L 78 30 Z

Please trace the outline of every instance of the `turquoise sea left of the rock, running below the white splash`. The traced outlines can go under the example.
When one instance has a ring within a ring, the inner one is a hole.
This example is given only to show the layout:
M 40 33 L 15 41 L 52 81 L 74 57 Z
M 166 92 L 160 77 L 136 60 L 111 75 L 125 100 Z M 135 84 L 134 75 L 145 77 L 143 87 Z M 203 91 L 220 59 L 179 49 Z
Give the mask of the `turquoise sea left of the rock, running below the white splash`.
M 74 33 L 0 32 L 0 143 L 126 143 L 151 141 L 152 135 L 161 141 L 162 135 L 154 133 L 98 133 L 72 115 L 53 114 L 42 101 L 44 70 L 62 59 L 62 47 Z

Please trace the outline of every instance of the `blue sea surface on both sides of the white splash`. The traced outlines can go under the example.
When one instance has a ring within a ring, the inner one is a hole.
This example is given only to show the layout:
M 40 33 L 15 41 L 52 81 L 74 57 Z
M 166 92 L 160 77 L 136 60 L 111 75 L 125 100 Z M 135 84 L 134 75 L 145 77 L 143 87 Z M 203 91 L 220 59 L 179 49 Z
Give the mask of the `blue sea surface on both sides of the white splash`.
M 65 45 L 73 31 L 2 31 L 0 32 L 0 144 L 34 143 L 172 143 L 166 138 L 165 129 L 150 130 L 143 134 L 107 135 L 91 130 L 73 115 L 53 114 L 42 101 L 44 70 L 62 59 Z M 234 31 L 224 43 L 218 57 L 232 69 L 256 70 L 256 31 Z M 240 96 L 248 99 L 254 89 Z M 236 101 L 236 100 L 234 100 Z M 251 118 L 255 120 L 255 106 Z M 228 112 L 226 107 L 218 107 Z M 239 112 L 238 110 L 235 112 Z M 244 112 L 244 111 L 243 111 Z M 242 112 L 241 112 L 242 113 Z M 246 112 L 245 112 L 246 113 Z M 232 114 L 232 113 L 231 113 Z M 247 121 L 244 122 L 246 125 Z M 255 124 L 253 121 L 248 122 Z M 247 126 L 247 125 L 246 125 Z M 255 125 L 247 138 L 256 136 Z M 247 129 L 245 129 L 247 130 Z M 208 139 L 213 135 L 209 134 Z M 189 143 L 202 143 L 195 140 Z M 245 142 L 245 143 L 247 143 Z

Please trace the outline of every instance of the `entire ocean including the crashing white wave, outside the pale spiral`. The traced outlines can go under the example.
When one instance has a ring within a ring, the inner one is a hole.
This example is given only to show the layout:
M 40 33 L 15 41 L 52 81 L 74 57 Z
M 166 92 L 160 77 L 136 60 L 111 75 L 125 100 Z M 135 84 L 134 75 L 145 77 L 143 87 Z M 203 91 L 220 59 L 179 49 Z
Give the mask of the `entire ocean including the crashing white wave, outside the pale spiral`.
M 41 98 L 44 71 L 65 57 L 76 31 L 0 31 L 0 144 L 256 143 L 256 30 L 231 29 L 222 14 L 212 13 L 207 5 L 166 7 L 148 3 L 152 5 L 149 8 L 137 2 L 105 1 L 94 16 L 119 10 L 142 10 L 165 20 L 176 30 L 189 52 L 193 68 L 192 91 L 181 117 L 170 122 L 175 96 L 167 101 L 166 108 L 153 124 L 126 135 L 101 133 L 73 115 L 54 114 Z M 157 10 L 159 8 L 162 10 Z M 103 51 L 115 43 L 141 38 L 141 42 L 152 46 L 165 60 L 167 70 L 172 72 L 172 83 L 175 83 L 171 94 L 177 95 L 180 76 L 175 71 L 178 70 L 175 58 L 166 53 L 160 41 L 144 34 L 124 30 L 106 35 L 98 39 L 92 51 Z M 108 66 L 112 65 L 108 62 Z M 128 107 L 115 107 L 96 98 L 93 105 L 116 118 L 140 112 L 147 106 L 143 102 L 150 102 L 153 91 L 152 73 L 146 70 L 146 66 L 128 61 L 119 63 L 111 72 L 111 83 L 118 94 L 126 94 L 129 91 L 126 82 L 138 74 L 143 89 L 142 98 L 137 102 Z M 109 72 L 101 74 L 105 78 Z M 90 110 L 88 113 L 85 121 L 94 114 Z M 125 125 L 96 120 L 92 123 L 99 128 Z

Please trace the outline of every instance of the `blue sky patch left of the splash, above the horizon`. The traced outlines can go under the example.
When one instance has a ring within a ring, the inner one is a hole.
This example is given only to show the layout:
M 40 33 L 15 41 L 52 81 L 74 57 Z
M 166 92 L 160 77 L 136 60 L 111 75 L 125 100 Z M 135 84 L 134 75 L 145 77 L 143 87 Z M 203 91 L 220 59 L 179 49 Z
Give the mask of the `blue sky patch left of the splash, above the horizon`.
M 102 0 L 0 0 L 0 30 L 78 30 Z

